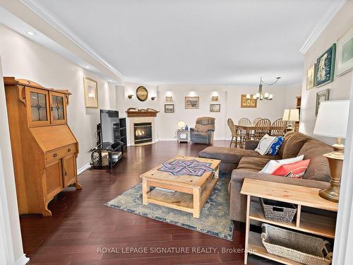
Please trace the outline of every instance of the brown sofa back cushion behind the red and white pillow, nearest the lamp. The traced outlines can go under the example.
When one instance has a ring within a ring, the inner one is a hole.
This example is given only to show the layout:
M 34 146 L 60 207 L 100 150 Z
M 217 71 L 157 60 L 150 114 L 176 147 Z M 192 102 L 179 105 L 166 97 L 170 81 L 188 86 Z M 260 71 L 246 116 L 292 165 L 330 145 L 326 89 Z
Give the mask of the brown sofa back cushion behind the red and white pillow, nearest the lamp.
M 331 146 L 316 139 L 304 143 L 299 155 L 304 155 L 304 159 L 310 158 L 311 163 L 303 178 L 330 182 L 330 166 L 328 165 L 328 158 L 325 158 L 323 154 L 331 151 L 333 151 Z

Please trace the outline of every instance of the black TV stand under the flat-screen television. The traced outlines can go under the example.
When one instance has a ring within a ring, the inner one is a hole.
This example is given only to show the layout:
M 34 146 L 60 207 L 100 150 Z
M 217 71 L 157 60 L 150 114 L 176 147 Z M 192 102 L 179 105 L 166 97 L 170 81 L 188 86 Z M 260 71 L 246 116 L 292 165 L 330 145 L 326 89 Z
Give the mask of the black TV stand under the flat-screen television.
M 124 157 L 124 143 L 117 141 L 115 143 L 101 143 L 92 152 L 92 169 L 96 170 L 113 170 L 114 165 Z

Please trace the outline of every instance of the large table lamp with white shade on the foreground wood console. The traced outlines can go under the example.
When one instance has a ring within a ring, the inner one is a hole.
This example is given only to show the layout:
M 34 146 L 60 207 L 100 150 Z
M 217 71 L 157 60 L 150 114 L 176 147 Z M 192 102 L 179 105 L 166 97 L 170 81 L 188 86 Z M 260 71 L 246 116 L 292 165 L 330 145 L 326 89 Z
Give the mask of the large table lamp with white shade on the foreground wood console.
M 346 138 L 349 113 L 349 100 L 330 100 L 321 102 L 313 134 L 334 137 L 337 142 L 333 151 L 326 153 L 331 170 L 330 186 L 321 189 L 319 195 L 330 201 L 338 202 L 345 146 L 342 139 Z

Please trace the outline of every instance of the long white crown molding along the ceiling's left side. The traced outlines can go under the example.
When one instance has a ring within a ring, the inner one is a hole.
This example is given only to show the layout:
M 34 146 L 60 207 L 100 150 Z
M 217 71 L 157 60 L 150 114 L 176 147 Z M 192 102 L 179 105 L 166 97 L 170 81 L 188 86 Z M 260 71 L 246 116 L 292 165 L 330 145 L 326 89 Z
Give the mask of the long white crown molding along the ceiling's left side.
M 93 59 L 98 61 L 102 66 L 112 71 L 116 76 L 124 80 L 124 75 L 121 74 L 117 69 L 114 68 L 111 64 L 109 64 L 104 58 L 102 58 L 94 49 L 92 49 L 89 45 L 87 45 L 83 40 L 80 40 L 74 33 L 69 30 L 64 23 L 56 18 L 53 13 L 51 13 L 47 8 L 44 8 L 41 4 L 39 4 L 35 0 L 19 0 L 23 5 L 29 8 L 32 12 L 34 12 L 37 16 L 40 16 L 45 22 L 49 23 L 53 28 L 59 31 L 62 35 L 71 40 L 75 45 L 83 49 L 87 54 L 90 55 Z

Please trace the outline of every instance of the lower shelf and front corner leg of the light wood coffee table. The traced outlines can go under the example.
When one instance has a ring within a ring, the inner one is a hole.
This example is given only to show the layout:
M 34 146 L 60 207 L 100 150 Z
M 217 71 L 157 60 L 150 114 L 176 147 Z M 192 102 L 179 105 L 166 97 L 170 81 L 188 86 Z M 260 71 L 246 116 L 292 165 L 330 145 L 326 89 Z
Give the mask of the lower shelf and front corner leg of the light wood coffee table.
M 213 188 L 217 182 L 218 178 L 212 177 L 210 180 L 208 180 L 208 182 L 205 183 L 205 187 L 201 188 L 201 191 L 200 189 L 194 189 L 193 194 L 177 191 L 162 192 L 157 189 L 152 189 L 152 191 L 147 192 L 147 198 L 145 202 L 193 213 L 194 218 L 199 218 L 201 209 L 207 201 L 208 196 L 210 196 L 212 193 Z M 158 186 L 155 185 L 155 187 Z M 163 188 L 165 188 L 164 185 Z

